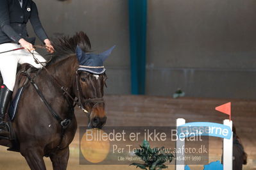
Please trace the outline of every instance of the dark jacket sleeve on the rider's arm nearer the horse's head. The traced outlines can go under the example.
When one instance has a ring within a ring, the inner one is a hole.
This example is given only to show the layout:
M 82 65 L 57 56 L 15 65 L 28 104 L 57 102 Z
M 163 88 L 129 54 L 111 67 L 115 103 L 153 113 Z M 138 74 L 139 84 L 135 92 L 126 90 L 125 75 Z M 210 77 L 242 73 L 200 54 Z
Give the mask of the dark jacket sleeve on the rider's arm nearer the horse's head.
M 30 22 L 35 31 L 35 34 L 42 42 L 44 42 L 44 40 L 46 40 L 48 36 L 46 35 L 46 31 L 44 31 L 44 28 L 42 27 L 42 24 L 38 17 L 37 5 L 33 1 L 31 3 Z

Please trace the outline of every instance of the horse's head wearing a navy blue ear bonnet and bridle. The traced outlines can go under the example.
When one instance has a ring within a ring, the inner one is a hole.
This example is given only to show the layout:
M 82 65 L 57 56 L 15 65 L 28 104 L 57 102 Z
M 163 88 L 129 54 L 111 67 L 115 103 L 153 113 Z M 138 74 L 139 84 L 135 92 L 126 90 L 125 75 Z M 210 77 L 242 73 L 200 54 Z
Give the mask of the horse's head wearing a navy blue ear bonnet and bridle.
M 102 128 L 107 116 L 103 100 L 104 86 L 107 80 L 103 61 L 114 47 L 101 54 L 85 53 L 76 47 L 78 70 L 76 72 L 76 97 L 79 107 L 87 114 L 89 128 Z

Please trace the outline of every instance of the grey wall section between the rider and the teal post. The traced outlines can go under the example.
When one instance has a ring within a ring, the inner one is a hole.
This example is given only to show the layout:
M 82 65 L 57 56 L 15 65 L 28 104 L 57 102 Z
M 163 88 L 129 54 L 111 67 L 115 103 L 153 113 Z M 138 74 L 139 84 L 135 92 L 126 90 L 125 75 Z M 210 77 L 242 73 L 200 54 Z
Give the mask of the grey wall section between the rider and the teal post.
M 125 0 L 33 0 L 48 36 L 73 36 L 84 31 L 92 50 L 103 52 L 117 45 L 106 60 L 107 94 L 130 93 L 128 3 Z M 33 29 L 30 29 L 31 36 Z M 37 42 L 40 43 L 40 42 Z

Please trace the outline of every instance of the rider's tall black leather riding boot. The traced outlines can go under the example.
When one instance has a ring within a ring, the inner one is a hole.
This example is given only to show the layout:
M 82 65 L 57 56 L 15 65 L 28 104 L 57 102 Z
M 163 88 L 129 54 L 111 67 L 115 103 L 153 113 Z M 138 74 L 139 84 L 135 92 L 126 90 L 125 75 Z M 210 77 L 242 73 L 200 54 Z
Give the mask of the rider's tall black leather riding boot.
M 11 98 L 12 91 L 10 91 L 10 89 L 8 89 L 5 85 L 0 86 L 0 136 L 4 137 L 9 136 L 9 129 L 4 122 L 4 116 Z

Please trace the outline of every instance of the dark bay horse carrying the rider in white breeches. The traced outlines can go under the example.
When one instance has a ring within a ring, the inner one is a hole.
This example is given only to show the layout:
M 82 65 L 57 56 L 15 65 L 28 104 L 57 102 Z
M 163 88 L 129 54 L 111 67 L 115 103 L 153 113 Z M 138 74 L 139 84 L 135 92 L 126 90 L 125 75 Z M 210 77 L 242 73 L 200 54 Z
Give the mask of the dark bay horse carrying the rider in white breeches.
M 54 118 L 30 83 L 24 89 L 17 114 L 12 122 L 17 150 L 26 158 L 30 168 L 35 170 L 46 169 L 44 156 L 51 158 L 53 169 L 67 168 L 69 144 L 73 141 L 77 127 L 74 109 L 71 107 L 74 102 L 72 98 L 80 98 L 80 107 L 89 116 L 90 128 L 103 127 L 107 119 L 103 101 L 103 88 L 107 75 L 105 72 L 94 74 L 78 71 L 81 60 L 86 60 L 85 52 L 90 50 L 87 35 L 80 32 L 71 38 L 59 38 L 53 42 L 53 46 L 55 48 L 53 59 L 47 64 L 47 70 L 42 69 L 35 77 L 35 84 L 58 116 L 62 119 L 71 116 L 71 122 L 65 128 L 65 133 L 62 133 L 62 125 Z M 105 53 L 104 58 L 108 54 L 110 52 Z M 97 56 L 99 59 L 100 55 Z M 103 69 L 103 66 L 92 65 L 88 68 L 97 70 Z M 70 97 L 64 95 L 58 83 L 65 87 Z M 0 139 L 0 144 L 13 148 L 13 142 L 7 139 Z

